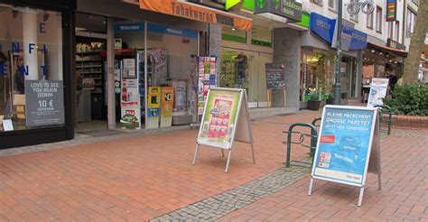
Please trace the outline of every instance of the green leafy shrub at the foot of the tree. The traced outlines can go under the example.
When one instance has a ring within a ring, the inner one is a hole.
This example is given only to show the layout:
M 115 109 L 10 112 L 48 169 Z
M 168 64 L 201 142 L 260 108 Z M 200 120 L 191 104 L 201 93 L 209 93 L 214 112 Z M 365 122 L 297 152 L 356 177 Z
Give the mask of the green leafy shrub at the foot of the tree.
M 428 85 L 395 86 L 391 96 L 384 99 L 384 103 L 399 115 L 428 116 Z

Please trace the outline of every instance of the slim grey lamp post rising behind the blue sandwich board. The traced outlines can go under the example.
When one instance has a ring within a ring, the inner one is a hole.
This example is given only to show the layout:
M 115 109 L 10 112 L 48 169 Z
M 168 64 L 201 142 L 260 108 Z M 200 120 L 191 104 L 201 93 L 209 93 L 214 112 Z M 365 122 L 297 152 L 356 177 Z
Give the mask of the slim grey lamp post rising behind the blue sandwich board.
M 342 45 L 342 0 L 339 0 L 338 7 L 338 44 L 337 44 L 337 65 L 336 65 L 336 79 L 334 84 L 334 95 L 333 95 L 333 104 L 340 105 L 340 90 L 341 90 L 341 82 L 340 82 L 340 62 L 341 62 L 341 45 Z

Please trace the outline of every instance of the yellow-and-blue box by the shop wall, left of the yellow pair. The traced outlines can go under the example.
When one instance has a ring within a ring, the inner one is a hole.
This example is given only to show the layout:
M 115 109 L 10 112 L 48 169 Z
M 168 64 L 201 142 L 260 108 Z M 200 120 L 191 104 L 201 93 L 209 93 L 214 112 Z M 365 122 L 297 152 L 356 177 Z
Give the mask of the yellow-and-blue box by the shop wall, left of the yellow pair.
M 159 117 L 161 116 L 161 88 L 150 87 L 147 97 L 147 129 L 159 128 Z

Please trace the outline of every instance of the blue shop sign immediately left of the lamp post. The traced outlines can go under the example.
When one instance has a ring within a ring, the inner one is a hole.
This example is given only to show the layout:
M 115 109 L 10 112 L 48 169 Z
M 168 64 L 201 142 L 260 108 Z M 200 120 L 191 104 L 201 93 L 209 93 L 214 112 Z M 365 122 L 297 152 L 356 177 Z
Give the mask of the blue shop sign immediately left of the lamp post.
M 315 33 L 326 42 L 333 42 L 335 25 L 335 19 L 330 19 L 321 14 L 311 14 L 311 32 Z

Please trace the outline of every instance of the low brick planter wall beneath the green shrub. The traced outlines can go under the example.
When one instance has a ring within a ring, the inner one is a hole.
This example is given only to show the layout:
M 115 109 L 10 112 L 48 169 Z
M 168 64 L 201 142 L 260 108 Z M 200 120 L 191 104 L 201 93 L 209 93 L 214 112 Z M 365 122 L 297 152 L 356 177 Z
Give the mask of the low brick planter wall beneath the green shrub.
M 384 121 L 388 119 L 388 116 L 384 114 Z M 402 115 L 393 115 L 392 116 L 393 128 L 401 129 L 428 129 L 428 116 L 402 116 Z

